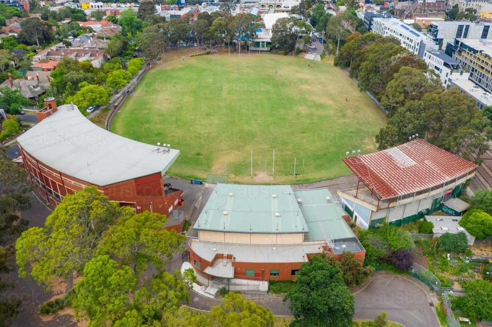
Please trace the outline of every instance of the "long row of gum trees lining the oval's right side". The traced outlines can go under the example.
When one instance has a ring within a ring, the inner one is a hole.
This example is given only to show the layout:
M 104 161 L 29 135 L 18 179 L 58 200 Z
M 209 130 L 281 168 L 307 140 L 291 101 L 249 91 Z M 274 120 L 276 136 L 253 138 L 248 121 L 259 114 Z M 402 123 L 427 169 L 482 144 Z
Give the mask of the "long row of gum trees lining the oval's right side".
M 491 121 L 458 89 L 444 90 L 434 70 L 392 37 L 353 33 L 336 57 L 362 91 L 377 97 L 392 118 L 376 135 L 386 149 L 419 134 L 445 150 L 488 149 Z

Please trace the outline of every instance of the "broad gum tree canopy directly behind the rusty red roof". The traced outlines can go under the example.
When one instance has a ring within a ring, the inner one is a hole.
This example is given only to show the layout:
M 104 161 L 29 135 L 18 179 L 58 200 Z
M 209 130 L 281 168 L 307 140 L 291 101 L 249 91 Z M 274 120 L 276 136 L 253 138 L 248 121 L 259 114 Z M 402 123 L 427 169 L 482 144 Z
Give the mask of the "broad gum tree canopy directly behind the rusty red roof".
M 445 150 L 458 152 L 465 148 L 481 154 L 488 149 L 490 120 L 475 101 L 457 88 L 426 93 L 422 99 L 409 101 L 397 109 L 376 135 L 378 149 L 386 149 L 419 134 Z

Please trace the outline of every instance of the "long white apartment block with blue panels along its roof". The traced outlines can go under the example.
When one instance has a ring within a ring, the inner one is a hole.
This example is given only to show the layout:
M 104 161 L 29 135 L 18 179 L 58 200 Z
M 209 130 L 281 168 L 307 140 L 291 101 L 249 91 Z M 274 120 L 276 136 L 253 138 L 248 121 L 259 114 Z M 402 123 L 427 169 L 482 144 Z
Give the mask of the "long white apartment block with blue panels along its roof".
M 431 50 L 434 46 L 427 34 L 417 31 L 396 18 L 374 18 L 371 32 L 398 39 L 402 47 L 421 58 L 427 50 Z

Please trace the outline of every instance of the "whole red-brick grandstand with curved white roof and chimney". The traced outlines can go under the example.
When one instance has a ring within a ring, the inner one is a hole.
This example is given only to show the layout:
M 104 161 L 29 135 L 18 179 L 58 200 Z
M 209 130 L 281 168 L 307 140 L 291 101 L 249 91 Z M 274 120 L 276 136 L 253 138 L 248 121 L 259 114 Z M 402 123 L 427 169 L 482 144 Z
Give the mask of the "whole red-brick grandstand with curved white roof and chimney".
M 115 135 L 84 117 L 73 105 L 57 108 L 45 99 L 39 123 L 17 137 L 23 166 L 48 202 L 94 185 L 111 201 L 136 213 L 150 211 L 169 218 L 167 229 L 181 232 L 182 190 L 165 187 L 162 176 L 179 150 L 144 144 Z M 180 227 L 181 226 L 181 227 Z

